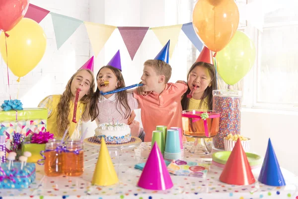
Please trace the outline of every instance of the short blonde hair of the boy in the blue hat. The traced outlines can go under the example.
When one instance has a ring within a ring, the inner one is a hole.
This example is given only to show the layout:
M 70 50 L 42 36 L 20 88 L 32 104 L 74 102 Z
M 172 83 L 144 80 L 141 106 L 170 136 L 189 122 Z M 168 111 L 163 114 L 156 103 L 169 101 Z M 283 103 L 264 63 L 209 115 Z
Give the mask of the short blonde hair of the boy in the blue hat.
M 165 84 L 167 84 L 171 78 L 172 67 L 164 61 L 149 59 L 144 63 L 144 66 L 151 66 L 154 69 L 156 75 L 164 75 Z

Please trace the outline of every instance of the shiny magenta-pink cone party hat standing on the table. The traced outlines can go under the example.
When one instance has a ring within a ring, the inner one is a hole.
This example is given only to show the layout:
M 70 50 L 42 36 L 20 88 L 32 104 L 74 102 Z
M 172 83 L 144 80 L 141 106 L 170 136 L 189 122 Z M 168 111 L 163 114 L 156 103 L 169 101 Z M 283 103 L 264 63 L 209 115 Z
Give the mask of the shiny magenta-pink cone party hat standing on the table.
M 156 142 L 151 149 L 138 186 L 148 190 L 167 190 L 173 187 L 170 174 Z

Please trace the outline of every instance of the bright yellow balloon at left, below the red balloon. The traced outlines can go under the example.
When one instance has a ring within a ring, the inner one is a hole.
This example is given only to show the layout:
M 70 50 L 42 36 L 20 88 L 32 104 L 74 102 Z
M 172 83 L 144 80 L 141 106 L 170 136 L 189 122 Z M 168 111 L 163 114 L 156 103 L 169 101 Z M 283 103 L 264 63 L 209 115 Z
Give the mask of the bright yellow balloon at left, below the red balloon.
M 0 35 L 0 52 L 8 68 L 17 77 L 23 77 L 34 69 L 43 57 L 47 37 L 42 27 L 34 20 L 23 18 L 14 28 L 6 32 L 7 54 L 5 47 L 5 34 Z

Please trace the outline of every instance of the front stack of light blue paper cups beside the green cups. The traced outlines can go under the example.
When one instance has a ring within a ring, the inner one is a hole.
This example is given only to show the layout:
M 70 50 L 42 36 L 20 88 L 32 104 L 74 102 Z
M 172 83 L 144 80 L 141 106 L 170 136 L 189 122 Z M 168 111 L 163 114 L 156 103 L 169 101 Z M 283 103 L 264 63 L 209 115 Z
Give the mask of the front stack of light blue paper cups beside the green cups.
M 168 129 L 164 148 L 164 159 L 167 161 L 178 160 L 182 158 L 180 148 L 179 130 Z

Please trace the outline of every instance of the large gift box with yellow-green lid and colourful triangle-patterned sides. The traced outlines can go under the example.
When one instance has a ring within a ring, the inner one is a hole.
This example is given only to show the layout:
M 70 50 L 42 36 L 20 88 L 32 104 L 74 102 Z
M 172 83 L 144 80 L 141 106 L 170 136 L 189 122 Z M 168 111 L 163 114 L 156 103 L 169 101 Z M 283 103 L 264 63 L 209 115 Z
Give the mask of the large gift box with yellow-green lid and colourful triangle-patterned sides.
M 46 108 L 24 108 L 23 110 L 0 110 L 0 126 L 5 128 L 6 149 L 14 132 L 25 137 L 33 133 L 45 131 L 47 127 L 48 110 Z

